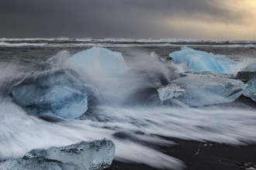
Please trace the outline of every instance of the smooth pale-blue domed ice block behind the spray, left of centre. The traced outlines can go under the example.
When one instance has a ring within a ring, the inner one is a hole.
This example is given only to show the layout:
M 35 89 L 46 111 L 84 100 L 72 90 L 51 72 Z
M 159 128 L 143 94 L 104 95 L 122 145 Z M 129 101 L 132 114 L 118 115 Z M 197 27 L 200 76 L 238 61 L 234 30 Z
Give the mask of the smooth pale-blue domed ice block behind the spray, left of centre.
M 126 63 L 121 53 L 99 47 L 76 53 L 67 59 L 65 64 L 80 76 L 86 75 L 97 79 L 116 76 L 126 70 Z

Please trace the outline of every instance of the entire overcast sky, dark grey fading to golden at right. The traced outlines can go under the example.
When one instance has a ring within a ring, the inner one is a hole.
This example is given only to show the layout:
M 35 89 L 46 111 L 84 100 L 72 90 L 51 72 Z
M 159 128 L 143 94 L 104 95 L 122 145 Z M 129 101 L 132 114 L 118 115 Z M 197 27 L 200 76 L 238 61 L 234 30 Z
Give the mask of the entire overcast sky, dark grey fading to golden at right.
M 256 40 L 256 0 L 0 0 L 0 37 Z

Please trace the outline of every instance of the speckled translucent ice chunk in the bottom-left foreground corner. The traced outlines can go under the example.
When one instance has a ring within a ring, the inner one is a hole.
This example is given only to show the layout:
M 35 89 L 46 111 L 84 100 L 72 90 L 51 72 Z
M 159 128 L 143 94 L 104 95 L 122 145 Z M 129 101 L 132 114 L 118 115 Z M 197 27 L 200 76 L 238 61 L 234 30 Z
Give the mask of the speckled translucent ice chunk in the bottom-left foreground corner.
M 112 164 L 112 141 L 81 141 L 74 145 L 33 149 L 23 158 L 0 162 L 1 170 L 101 170 Z

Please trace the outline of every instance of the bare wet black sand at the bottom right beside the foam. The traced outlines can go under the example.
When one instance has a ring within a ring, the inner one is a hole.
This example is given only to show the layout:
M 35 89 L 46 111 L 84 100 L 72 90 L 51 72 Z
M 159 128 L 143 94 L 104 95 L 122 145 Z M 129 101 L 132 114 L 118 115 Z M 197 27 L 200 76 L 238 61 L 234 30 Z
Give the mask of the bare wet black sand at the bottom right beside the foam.
M 246 104 L 252 109 L 256 102 L 241 96 L 234 104 Z M 255 112 L 256 114 L 256 112 Z M 256 129 L 256 124 L 255 124 Z M 157 150 L 166 155 L 180 159 L 185 163 L 185 169 L 191 170 L 256 170 L 256 144 L 224 145 L 210 141 L 187 141 L 178 138 L 168 138 L 177 145 L 158 147 Z M 254 167 L 254 168 L 253 168 Z M 157 170 L 148 165 L 112 162 L 109 170 Z

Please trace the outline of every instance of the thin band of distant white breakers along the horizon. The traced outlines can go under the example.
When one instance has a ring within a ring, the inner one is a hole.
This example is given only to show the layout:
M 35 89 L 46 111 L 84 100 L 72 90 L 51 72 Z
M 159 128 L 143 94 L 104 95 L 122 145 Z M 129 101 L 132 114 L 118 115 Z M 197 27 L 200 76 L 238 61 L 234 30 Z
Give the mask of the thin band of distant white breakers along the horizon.
M 69 39 L 69 38 L 0 38 L 0 47 L 141 47 L 141 46 L 182 46 L 189 43 L 190 46 L 215 46 L 224 48 L 255 48 L 255 41 L 225 41 L 225 40 L 199 40 L 199 39 Z

